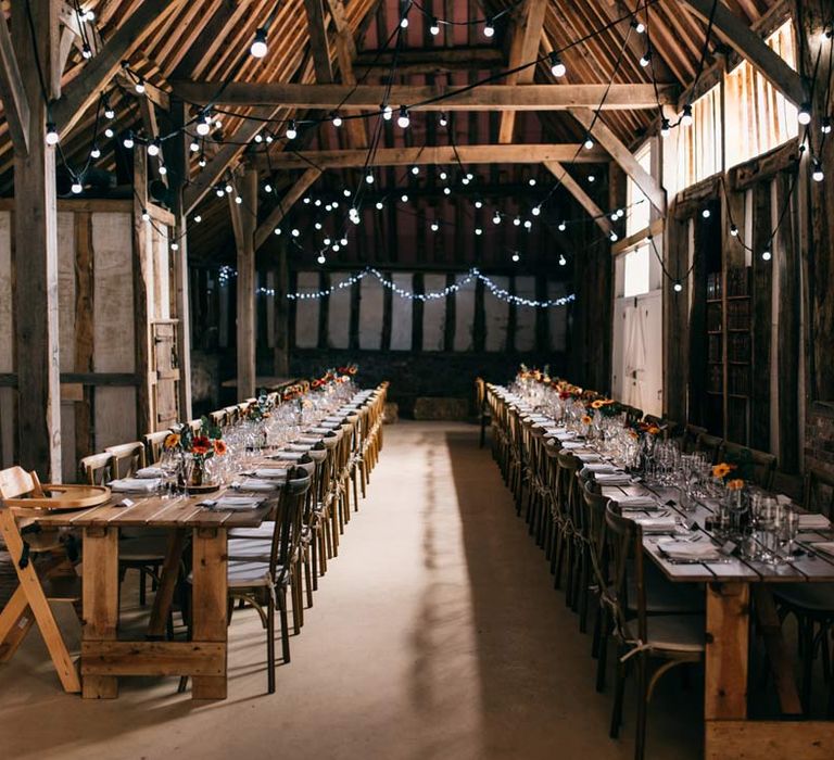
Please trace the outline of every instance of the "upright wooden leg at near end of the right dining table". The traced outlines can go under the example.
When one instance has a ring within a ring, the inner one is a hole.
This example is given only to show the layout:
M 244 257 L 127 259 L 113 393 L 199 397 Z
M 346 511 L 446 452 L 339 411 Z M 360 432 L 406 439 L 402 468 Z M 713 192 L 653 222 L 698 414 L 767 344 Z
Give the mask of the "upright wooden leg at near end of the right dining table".
M 708 758 L 723 757 L 716 746 L 716 723 L 747 719 L 749 607 L 749 584 L 707 585 L 704 720 Z

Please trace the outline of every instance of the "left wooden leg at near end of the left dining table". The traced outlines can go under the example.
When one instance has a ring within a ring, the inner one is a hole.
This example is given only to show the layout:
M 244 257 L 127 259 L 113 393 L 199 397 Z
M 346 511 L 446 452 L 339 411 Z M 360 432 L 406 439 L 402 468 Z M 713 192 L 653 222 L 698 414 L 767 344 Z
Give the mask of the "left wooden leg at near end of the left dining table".
M 85 528 L 83 567 L 83 642 L 115 641 L 118 629 L 117 528 Z M 85 674 L 83 696 L 85 699 L 113 699 L 118 696 L 118 679 Z

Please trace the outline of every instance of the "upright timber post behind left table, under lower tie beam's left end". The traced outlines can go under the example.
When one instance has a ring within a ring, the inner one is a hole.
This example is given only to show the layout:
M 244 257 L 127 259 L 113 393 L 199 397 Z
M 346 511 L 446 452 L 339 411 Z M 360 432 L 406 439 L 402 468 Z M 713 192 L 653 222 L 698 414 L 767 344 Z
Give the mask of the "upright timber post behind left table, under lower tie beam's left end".
M 238 398 L 255 395 L 255 225 L 257 224 L 257 169 L 248 166 L 240 180 L 243 203 L 238 245 Z M 235 208 L 232 208 L 232 213 Z

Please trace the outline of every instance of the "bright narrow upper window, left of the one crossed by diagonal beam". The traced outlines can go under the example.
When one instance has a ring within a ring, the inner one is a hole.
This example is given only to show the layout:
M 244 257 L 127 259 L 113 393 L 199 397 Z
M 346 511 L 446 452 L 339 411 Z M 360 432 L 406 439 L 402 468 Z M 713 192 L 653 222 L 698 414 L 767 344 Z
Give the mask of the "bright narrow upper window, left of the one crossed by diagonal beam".
M 680 127 L 678 187 L 683 190 L 721 170 L 721 87 L 692 104 L 692 125 Z

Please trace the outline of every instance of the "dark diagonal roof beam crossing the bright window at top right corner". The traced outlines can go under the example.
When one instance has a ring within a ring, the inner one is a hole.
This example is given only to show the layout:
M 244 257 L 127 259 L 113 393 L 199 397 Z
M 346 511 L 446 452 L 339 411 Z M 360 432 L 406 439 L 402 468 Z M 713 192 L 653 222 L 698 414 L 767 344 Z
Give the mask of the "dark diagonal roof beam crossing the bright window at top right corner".
M 712 11 L 711 0 L 681 0 L 698 15 L 708 20 Z M 808 98 L 803 79 L 785 61 L 771 50 L 747 24 L 718 3 L 713 18 L 716 30 L 740 55 L 747 59 L 794 105 L 801 105 Z

